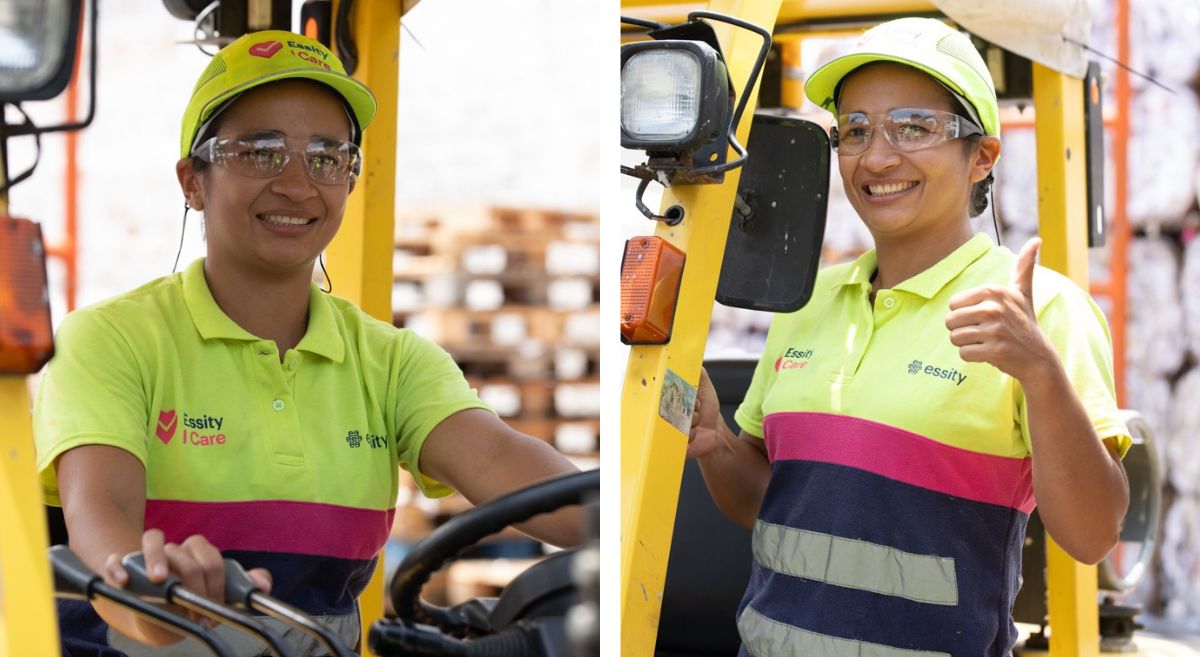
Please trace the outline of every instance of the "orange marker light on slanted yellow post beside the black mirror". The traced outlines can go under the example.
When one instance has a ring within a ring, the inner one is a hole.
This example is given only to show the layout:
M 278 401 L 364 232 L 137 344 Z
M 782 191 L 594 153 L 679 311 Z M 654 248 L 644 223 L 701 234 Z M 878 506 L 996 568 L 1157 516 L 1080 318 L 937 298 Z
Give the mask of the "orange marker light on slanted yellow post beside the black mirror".
M 634 237 L 625 242 L 625 258 L 620 263 L 622 342 L 671 342 L 685 259 L 684 252 L 661 237 Z

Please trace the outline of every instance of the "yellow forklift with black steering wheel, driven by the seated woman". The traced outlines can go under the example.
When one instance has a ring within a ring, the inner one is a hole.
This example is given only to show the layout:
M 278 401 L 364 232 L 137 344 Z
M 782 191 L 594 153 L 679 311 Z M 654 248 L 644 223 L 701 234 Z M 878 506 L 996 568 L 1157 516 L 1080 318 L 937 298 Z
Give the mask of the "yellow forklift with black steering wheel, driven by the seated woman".
M 340 296 L 385 321 L 392 319 L 401 17 L 418 1 L 163 0 L 164 11 L 196 23 L 197 34 L 202 35 L 197 43 L 212 49 L 252 31 L 290 30 L 299 11 L 300 31 L 336 49 L 348 72 L 376 94 L 378 113 L 361 144 L 364 175 L 329 247 L 329 270 L 330 277 L 338 281 Z M 48 551 L 47 508 L 35 471 L 26 381 L 28 375 L 49 361 L 54 349 L 46 248 L 38 224 L 8 216 L 7 204 L 12 185 L 32 173 L 30 169 L 13 175 L 8 170 L 8 139 L 36 139 L 47 132 L 82 129 L 96 113 L 98 4 L 98 0 L 0 1 L 4 44 L 0 50 L 0 526 L 4 528 L 0 530 L 0 657 L 60 653 L 55 595 L 66 595 L 65 591 L 88 598 L 116 595 L 70 550 Z M 82 56 L 84 44 L 90 46 L 86 58 Z M 71 82 L 80 59 L 89 61 L 92 98 L 85 120 L 58 126 L 35 126 L 28 117 L 18 125 L 4 120 L 2 110 L 7 107 L 19 110 L 22 102 L 56 97 Z M 374 577 L 360 598 L 364 633 L 359 650 L 380 657 L 415 651 L 596 655 L 599 516 L 592 502 L 598 494 L 599 471 L 593 470 L 544 482 L 464 512 L 415 546 L 388 586 L 380 555 Z M 455 608 L 440 608 L 421 598 L 421 586 L 430 575 L 462 549 L 530 516 L 581 502 L 590 504 L 593 510 L 590 542 L 581 550 L 556 553 L 535 563 L 499 599 L 476 598 Z M 329 641 L 329 633 L 323 635 L 298 610 L 278 607 L 276 601 L 251 591 L 241 593 L 242 598 L 226 601 L 227 610 L 211 617 L 230 621 L 229 609 L 240 607 L 286 620 L 318 640 Z M 152 599 L 156 595 L 163 597 L 160 592 L 143 592 L 142 597 Z M 385 595 L 390 596 L 397 620 L 383 620 Z M 127 597 L 131 608 L 145 608 L 143 613 L 162 622 L 179 622 L 160 617 L 158 611 L 142 604 L 145 601 L 130 596 L 120 599 Z M 179 592 L 167 595 L 164 601 L 193 611 L 203 608 L 185 598 Z M 228 646 L 220 641 L 204 638 L 204 643 L 215 655 L 227 653 Z M 353 650 L 334 643 L 326 645 L 332 655 L 349 655 Z

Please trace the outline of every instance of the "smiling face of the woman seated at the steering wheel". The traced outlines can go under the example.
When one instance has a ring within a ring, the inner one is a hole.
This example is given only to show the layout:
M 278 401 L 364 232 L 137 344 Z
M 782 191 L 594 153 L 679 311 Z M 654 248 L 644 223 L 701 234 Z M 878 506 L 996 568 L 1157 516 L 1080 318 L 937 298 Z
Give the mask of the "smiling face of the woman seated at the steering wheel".
M 216 164 L 196 173 L 187 159 L 180 162 L 184 193 L 204 211 L 209 261 L 244 272 L 311 272 L 342 223 L 354 183 L 313 182 L 300 153 L 313 137 L 350 139 L 344 106 L 322 85 L 283 80 L 247 91 L 218 122 L 218 138 L 272 131 L 283 133 L 293 152 L 274 177 Z

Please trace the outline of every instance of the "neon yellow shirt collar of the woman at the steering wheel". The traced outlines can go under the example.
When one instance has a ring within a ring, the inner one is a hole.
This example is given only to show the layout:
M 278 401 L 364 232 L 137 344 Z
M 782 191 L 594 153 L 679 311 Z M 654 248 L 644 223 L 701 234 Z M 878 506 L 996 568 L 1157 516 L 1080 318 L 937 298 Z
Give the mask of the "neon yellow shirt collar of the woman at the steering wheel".
M 184 303 L 192 314 L 192 323 L 203 339 L 232 339 L 257 342 L 260 338 L 246 331 L 229 319 L 224 311 L 217 306 L 209 290 L 208 279 L 204 278 L 204 258 L 197 259 L 187 266 L 182 273 Z M 335 362 L 342 362 L 346 355 L 346 345 L 342 343 L 341 332 L 337 330 L 337 321 L 334 317 L 331 301 L 317 285 L 308 287 L 308 330 L 296 349 L 308 351 L 318 356 L 324 356 Z

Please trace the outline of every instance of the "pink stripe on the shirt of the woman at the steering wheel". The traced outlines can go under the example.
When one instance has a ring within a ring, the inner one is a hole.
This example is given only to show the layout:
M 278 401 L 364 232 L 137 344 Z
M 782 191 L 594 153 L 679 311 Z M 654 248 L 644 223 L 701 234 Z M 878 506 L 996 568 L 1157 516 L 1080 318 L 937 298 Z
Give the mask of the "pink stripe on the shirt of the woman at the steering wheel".
M 145 526 L 182 543 L 203 535 L 221 550 L 372 559 L 388 541 L 395 508 L 376 511 L 281 500 L 146 500 Z

